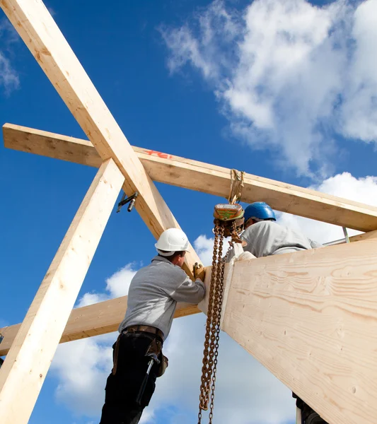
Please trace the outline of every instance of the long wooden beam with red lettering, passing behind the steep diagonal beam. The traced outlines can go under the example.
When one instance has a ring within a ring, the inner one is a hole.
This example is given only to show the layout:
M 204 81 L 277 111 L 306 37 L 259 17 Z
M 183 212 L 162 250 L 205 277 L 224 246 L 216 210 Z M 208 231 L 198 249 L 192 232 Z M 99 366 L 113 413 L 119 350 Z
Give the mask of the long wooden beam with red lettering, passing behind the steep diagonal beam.
M 100 164 L 98 153 L 86 140 L 13 124 L 5 124 L 3 134 L 7 148 L 93 167 Z M 225 198 L 229 194 L 231 170 L 227 168 L 144 148 L 134 147 L 134 151 L 154 181 Z M 342 227 L 360 231 L 377 229 L 374 206 L 246 174 L 242 201 L 257 200 L 267 201 L 277 211 Z

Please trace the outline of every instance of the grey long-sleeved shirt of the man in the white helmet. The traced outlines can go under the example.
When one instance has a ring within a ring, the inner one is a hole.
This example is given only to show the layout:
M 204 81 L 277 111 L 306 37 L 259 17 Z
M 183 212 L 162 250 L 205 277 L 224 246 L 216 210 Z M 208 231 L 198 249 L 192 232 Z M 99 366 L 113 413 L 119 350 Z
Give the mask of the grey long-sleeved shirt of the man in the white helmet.
M 199 303 L 205 294 L 204 283 L 191 281 L 180 266 L 156 256 L 139 269 L 129 285 L 127 312 L 119 331 L 132 325 L 150 325 L 169 334 L 177 302 Z

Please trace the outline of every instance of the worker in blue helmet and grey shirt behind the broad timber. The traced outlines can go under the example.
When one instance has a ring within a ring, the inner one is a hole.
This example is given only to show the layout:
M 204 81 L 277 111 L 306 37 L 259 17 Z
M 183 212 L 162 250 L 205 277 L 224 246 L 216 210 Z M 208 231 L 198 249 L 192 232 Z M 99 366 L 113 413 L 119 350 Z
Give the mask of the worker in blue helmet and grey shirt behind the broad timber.
M 240 238 L 248 243 L 243 249 L 257 258 L 323 247 L 301 232 L 278 224 L 274 211 L 265 202 L 256 201 L 247 206 L 243 218 L 244 231 Z M 228 261 L 233 256 L 232 252 Z M 292 395 L 297 399 L 296 406 L 301 409 L 301 424 L 327 424 L 296 394 Z

